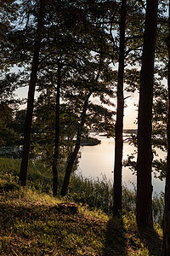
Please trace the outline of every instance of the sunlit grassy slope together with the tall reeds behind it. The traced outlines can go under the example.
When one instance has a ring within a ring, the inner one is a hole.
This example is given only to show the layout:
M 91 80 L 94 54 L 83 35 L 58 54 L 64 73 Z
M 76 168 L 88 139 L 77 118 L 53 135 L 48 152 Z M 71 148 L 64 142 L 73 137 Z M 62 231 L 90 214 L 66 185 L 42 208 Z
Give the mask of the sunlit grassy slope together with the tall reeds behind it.
M 111 218 L 112 190 L 105 178 L 92 183 L 74 176 L 70 195 L 61 200 L 52 196 L 41 163 L 30 163 L 25 189 L 17 184 L 19 170 L 20 161 L 0 159 L 0 255 L 161 255 L 160 225 L 138 228 L 133 191 L 123 190 L 122 218 Z M 156 211 L 160 205 L 156 201 Z

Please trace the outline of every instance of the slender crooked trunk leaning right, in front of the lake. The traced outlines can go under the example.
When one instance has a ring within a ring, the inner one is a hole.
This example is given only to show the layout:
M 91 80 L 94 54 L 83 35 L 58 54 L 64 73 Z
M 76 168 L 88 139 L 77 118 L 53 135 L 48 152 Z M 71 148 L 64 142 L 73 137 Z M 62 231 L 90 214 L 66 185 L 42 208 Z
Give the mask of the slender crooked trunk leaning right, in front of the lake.
M 68 191 L 68 187 L 69 187 L 69 182 L 70 182 L 70 177 L 71 177 L 71 171 L 72 171 L 72 167 L 74 165 L 75 160 L 77 159 L 77 154 L 78 151 L 80 149 L 80 143 L 81 143 L 81 138 L 82 138 L 82 129 L 86 120 L 86 112 L 87 112 L 87 108 L 88 108 L 88 99 L 91 96 L 91 93 L 88 94 L 87 99 L 84 102 L 83 108 L 82 108 L 82 114 L 81 114 L 81 123 L 79 126 L 79 129 L 77 131 L 77 140 L 76 140 L 76 144 L 75 144 L 75 148 L 74 151 L 70 154 L 68 162 L 67 162 L 67 166 L 66 166 L 66 170 L 65 170 L 65 178 L 64 178 L 64 182 L 61 188 L 61 195 L 65 196 L 67 194 Z

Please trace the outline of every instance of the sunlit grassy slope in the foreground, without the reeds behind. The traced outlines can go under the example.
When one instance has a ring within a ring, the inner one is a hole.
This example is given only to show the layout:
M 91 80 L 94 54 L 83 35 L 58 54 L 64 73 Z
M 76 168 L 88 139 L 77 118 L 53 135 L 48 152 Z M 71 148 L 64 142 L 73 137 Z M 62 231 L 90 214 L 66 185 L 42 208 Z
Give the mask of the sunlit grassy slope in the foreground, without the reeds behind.
M 0 255 L 161 255 L 161 236 L 0 178 Z

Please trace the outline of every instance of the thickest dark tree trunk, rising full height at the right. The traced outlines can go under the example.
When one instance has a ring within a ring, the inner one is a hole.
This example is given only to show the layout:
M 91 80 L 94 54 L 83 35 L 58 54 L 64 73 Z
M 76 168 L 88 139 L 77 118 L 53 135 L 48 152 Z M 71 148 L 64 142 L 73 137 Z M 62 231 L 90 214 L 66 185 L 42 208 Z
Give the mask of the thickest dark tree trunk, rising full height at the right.
M 157 0 L 146 1 L 144 49 L 140 73 L 138 160 L 137 160 L 137 223 L 152 228 L 151 150 L 154 58 L 156 45 Z

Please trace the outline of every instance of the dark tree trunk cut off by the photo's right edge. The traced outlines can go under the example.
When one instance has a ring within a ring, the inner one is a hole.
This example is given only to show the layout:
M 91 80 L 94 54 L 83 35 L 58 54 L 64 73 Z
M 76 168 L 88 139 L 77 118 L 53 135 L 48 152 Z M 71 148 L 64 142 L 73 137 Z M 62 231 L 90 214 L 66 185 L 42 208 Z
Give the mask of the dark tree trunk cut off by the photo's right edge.
M 162 256 L 170 255 L 170 1 L 169 1 L 169 35 L 167 38 L 168 70 L 167 70 L 167 175 L 165 187 L 165 209 L 163 218 Z

